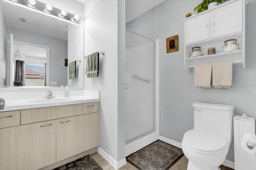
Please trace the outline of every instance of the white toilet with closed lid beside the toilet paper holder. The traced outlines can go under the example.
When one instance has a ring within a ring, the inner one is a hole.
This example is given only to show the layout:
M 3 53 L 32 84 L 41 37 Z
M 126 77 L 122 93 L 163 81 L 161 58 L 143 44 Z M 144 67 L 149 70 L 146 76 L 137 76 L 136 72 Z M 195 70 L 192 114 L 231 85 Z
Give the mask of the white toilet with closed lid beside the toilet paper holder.
M 193 103 L 194 129 L 185 132 L 187 170 L 220 170 L 233 136 L 233 105 Z

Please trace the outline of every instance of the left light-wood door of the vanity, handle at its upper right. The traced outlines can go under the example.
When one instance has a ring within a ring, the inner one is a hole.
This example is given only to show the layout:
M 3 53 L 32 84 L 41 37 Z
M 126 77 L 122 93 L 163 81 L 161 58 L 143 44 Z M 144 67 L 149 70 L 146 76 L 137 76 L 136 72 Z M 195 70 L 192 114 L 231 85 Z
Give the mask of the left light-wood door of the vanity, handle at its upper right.
M 56 161 L 56 121 L 0 129 L 0 169 L 36 170 Z

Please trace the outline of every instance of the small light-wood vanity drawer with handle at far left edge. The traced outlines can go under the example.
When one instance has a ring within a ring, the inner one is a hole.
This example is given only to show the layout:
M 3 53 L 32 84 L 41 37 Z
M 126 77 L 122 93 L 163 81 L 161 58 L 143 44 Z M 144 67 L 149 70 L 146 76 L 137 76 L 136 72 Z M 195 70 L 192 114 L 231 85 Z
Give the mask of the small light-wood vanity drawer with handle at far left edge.
M 20 125 L 20 111 L 0 112 L 0 128 Z

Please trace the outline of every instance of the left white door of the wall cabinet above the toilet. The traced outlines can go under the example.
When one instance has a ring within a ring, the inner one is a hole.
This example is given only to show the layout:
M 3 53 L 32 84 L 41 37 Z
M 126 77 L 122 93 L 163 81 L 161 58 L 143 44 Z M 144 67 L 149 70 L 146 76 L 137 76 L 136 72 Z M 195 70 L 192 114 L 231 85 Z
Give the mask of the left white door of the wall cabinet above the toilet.
M 185 21 L 186 44 L 210 38 L 209 13 Z

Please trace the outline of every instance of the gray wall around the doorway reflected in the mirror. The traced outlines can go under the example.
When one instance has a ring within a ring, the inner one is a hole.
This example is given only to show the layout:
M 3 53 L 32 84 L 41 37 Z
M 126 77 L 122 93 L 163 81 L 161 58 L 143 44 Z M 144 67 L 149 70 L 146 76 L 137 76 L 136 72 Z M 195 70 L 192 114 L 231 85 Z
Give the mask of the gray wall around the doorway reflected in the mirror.
M 50 81 L 57 81 L 57 85 L 68 85 L 68 67 L 64 66 L 64 59 L 68 58 L 68 41 L 44 36 L 24 30 L 7 27 L 7 35 L 14 36 L 14 41 L 34 43 L 50 47 Z

